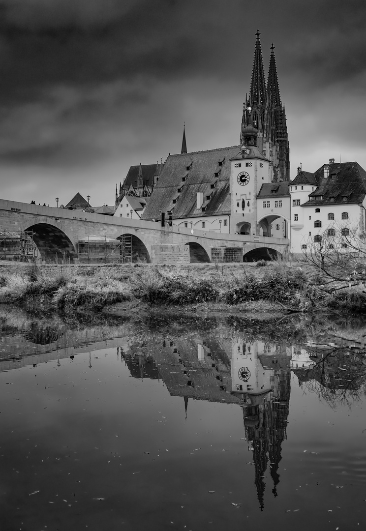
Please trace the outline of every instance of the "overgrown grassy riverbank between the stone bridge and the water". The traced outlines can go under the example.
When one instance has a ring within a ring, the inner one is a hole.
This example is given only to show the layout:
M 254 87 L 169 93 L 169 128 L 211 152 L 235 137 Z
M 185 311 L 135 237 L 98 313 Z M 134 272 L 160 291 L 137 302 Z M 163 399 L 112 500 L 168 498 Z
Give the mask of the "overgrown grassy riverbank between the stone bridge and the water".
M 363 286 L 334 293 L 307 264 L 270 261 L 230 264 L 114 266 L 3 263 L 0 303 L 42 311 L 143 311 L 198 306 L 198 311 L 363 311 Z M 203 305 L 203 308 L 200 306 Z

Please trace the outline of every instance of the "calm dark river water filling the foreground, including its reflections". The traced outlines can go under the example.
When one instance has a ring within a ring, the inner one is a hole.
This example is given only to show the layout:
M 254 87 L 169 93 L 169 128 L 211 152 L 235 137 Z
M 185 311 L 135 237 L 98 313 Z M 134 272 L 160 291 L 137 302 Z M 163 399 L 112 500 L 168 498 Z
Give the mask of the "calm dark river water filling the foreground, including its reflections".
M 0 310 L 2 531 L 366 525 L 366 325 Z

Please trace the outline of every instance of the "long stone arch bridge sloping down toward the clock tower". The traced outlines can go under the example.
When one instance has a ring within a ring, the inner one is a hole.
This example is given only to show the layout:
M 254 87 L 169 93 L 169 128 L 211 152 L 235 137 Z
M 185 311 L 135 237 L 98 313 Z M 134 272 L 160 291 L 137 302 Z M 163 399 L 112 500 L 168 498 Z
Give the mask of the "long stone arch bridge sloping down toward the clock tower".
M 131 235 L 132 261 L 154 263 L 241 262 L 268 253 L 285 254 L 283 238 L 206 233 L 178 227 L 160 227 L 151 221 L 103 216 L 77 210 L 0 199 L 0 230 L 20 234 L 32 230 L 42 259 L 78 259 L 78 242 L 89 236 L 121 238 Z

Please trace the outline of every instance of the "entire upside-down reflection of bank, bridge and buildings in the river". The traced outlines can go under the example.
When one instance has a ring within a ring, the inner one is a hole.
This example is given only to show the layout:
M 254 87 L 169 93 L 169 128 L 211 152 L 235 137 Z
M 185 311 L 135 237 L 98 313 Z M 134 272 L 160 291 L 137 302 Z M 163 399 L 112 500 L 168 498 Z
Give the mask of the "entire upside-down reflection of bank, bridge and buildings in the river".
M 179 316 L 175 321 L 148 316 L 113 326 L 79 323 L 73 329 L 60 320 L 44 321 L 37 328 L 24 315 L 21 319 L 8 314 L 2 320 L 0 371 L 52 360 L 57 371 L 60 360 L 76 362 L 82 353 L 88 369 L 98 370 L 92 352 L 114 348 L 118 365 L 142 384 L 140 392 L 147 380 L 155 380 L 171 397 L 180 397 L 185 421 L 191 414 L 190 399 L 240 407 L 241 439 L 251 455 L 251 488 L 263 511 L 285 490 L 281 462 L 294 393 L 291 383 L 333 408 L 347 402 L 351 410 L 366 391 L 364 332 L 362 323 L 356 329 L 354 323 L 344 327 L 342 335 L 338 327 L 336 336 L 331 322 L 307 322 L 305 327 L 289 319 L 278 327 L 275 321 L 263 324 L 232 316 Z

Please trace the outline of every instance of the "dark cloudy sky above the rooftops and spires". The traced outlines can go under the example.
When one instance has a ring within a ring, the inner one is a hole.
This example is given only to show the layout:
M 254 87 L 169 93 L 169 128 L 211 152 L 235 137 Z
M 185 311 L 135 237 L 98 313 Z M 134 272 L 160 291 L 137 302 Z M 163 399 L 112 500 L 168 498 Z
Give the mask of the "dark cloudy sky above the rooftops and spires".
M 114 204 L 130 165 L 239 142 L 257 27 L 291 174 L 366 168 L 362 0 L 0 0 L 3 199 Z

